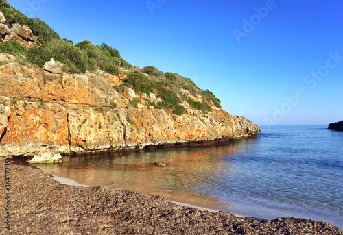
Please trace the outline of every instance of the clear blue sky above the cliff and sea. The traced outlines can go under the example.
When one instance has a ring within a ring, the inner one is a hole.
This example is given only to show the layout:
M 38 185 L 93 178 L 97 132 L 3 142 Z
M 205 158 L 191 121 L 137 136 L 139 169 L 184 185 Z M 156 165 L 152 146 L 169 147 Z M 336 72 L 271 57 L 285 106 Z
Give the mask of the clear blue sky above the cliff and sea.
M 258 125 L 343 119 L 343 1 L 8 0 L 62 38 L 106 42 Z

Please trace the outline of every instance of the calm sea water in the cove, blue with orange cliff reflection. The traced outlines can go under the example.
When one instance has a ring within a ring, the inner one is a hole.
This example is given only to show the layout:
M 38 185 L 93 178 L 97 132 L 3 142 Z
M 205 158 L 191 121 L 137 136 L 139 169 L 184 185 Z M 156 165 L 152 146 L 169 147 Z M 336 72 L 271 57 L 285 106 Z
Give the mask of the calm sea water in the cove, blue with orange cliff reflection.
M 326 128 L 261 126 L 255 137 L 213 145 L 66 156 L 62 163 L 34 166 L 80 184 L 257 219 L 296 217 L 343 228 L 343 132 Z

